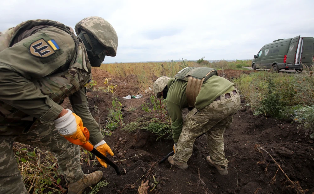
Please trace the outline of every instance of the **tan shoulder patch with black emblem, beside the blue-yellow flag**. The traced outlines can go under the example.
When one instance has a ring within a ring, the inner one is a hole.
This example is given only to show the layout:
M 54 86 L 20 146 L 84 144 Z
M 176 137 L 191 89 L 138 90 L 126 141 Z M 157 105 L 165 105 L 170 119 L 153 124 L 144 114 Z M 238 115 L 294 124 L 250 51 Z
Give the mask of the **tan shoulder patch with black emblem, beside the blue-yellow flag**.
M 30 44 L 30 54 L 35 55 L 36 57 L 49 57 L 55 53 L 55 49 L 51 48 L 43 38 Z

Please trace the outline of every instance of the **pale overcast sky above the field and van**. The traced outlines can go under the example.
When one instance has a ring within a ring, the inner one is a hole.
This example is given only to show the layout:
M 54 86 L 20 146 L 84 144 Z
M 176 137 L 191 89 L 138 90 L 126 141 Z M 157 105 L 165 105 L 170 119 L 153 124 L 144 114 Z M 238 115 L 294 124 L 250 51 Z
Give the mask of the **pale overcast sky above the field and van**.
M 29 19 L 74 28 L 89 16 L 105 18 L 118 35 L 117 55 L 105 63 L 252 59 L 273 40 L 314 36 L 314 0 L 9 0 L 1 2 L 0 31 Z

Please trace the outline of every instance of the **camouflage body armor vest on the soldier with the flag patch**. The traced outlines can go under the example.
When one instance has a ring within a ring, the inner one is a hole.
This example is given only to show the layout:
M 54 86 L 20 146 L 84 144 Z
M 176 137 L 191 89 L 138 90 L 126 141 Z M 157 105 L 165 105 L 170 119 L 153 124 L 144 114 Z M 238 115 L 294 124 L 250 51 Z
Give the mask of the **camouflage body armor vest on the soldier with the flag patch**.
M 71 34 L 76 44 L 76 56 L 71 60 L 67 71 L 30 80 L 41 90 L 42 94 L 48 95 L 54 102 L 61 104 L 65 98 L 88 83 L 91 73 L 91 65 L 84 44 L 75 36 L 73 29 L 51 20 L 29 20 L 0 33 L 0 52 L 12 46 L 12 41 L 19 32 L 40 25 L 62 29 Z M 25 120 L 32 121 L 34 118 L 0 100 L 0 126 L 20 125 L 21 121 Z

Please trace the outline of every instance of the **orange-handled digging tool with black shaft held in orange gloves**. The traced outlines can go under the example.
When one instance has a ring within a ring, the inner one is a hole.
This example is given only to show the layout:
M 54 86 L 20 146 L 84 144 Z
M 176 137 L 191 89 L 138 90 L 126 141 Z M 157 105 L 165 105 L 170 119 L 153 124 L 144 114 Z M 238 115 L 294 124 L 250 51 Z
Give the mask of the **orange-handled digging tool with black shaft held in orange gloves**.
M 95 154 L 95 156 L 99 157 L 100 159 L 104 160 L 107 164 L 112 166 L 115 169 L 117 175 L 121 175 L 121 172 L 120 172 L 118 166 L 115 163 L 113 163 L 111 160 L 109 160 L 106 156 L 101 154 L 98 150 L 96 150 L 94 148 L 94 146 L 91 143 L 88 142 L 88 140 L 89 140 L 89 131 L 87 130 L 87 128 L 86 127 L 80 127 L 80 128 L 81 128 L 81 130 L 82 130 L 82 132 L 83 132 L 83 134 L 84 134 L 84 136 L 85 136 L 85 138 L 87 140 L 87 142 L 85 144 L 82 143 L 80 140 L 74 140 L 74 139 L 69 138 L 69 137 L 65 137 L 65 139 L 67 139 L 68 141 L 70 141 L 73 144 L 80 145 L 85 150 L 90 151 L 91 153 Z

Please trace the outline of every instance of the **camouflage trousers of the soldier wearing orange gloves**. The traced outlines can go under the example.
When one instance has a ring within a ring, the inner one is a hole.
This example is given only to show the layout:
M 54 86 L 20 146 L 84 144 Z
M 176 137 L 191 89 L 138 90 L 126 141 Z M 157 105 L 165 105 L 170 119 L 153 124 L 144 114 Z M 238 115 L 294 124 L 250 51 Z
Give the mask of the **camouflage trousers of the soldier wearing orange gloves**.
M 12 134 L 12 131 L 22 130 L 13 126 L 6 128 L 7 133 L 0 133 L 0 193 L 27 193 L 14 158 L 14 141 L 51 151 L 57 158 L 58 170 L 68 182 L 76 182 L 84 176 L 79 161 L 79 146 L 61 136 L 54 125 L 42 124 L 26 134 Z

